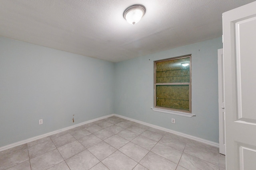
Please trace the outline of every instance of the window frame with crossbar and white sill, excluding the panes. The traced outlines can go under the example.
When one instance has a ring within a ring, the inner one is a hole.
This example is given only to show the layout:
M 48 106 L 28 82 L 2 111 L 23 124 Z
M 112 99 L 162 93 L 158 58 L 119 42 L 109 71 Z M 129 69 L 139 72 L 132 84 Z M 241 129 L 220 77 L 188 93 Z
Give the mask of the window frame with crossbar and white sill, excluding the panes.
M 163 61 L 171 61 L 175 59 L 183 59 L 183 58 L 189 58 L 190 61 L 190 70 L 189 70 L 189 75 L 190 75 L 190 82 L 185 82 L 185 83 L 156 83 L 156 63 L 163 62 Z M 181 115 L 185 117 L 192 117 L 195 116 L 192 114 L 192 71 L 191 71 L 191 58 L 192 55 L 183 55 L 179 57 L 172 57 L 168 59 L 161 59 L 154 61 L 154 107 L 152 108 L 154 111 L 158 112 L 163 112 L 163 113 L 169 113 L 169 114 L 174 114 L 174 115 Z M 174 108 L 169 108 L 169 107 L 161 107 L 161 106 L 156 106 L 156 86 L 157 85 L 188 85 L 189 86 L 189 110 L 182 110 L 182 109 L 174 109 Z

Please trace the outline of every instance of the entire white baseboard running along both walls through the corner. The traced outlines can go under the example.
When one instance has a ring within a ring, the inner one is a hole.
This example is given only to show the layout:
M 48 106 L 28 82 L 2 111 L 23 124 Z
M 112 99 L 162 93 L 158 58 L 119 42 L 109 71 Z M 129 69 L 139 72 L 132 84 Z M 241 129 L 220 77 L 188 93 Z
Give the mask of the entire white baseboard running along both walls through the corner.
M 131 118 L 128 118 L 128 117 L 125 117 L 125 116 L 121 116 L 121 115 L 117 115 L 117 114 L 111 114 L 111 115 L 107 115 L 107 116 L 103 116 L 103 117 L 99 117 L 97 119 L 92 119 L 92 120 L 89 120 L 89 121 L 85 121 L 85 122 L 82 122 L 82 123 L 78 123 L 76 125 L 72 125 L 72 126 L 69 126 L 69 127 L 65 127 L 65 128 L 62 128 L 62 129 L 59 129 L 59 130 L 56 130 L 56 131 L 52 131 L 52 132 L 49 132 L 49 133 L 45 133 L 43 135 L 39 135 L 39 136 L 36 136 L 36 137 L 32 137 L 32 138 L 29 138 L 29 139 L 25 139 L 23 141 L 19 141 L 19 142 L 16 142 L 16 143 L 12 143 L 10 145 L 6 145 L 4 147 L 0 147 L 0 152 L 3 151 L 3 150 L 6 150 L 6 149 L 10 149 L 10 148 L 13 148 L 13 147 L 17 147 L 19 145 L 23 145 L 23 144 L 26 144 L 26 143 L 29 143 L 29 142 L 32 142 L 32 141 L 36 141 L 38 139 L 42 139 L 44 137 L 48 137 L 50 135 L 54 135 L 56 133 L 60 133 L 62 131 L 66 131 L 66 130 L 69 130 L 69 129 L 72 129 L 74 127 L 78 127 L 78 126 L 81 126 L 81 125 L 84 125 L 84 124 L 87 124 L 87 123 L 91 123 L 91 122 L 94 122 L 94 121 L 97 121 L 97 120 L 100 120 L 100 119 L 105 119 L 107 117 L 111 117 L 111 116 L 117 116 L 117 117 L 121 117 L 123 119 L 127 119 L 127 120 L 130 120 L 130 121 L 134 121 L 136 123 L 140 123 L 142 125 L 146 125 L 146 126 L 149 126 L 149 127 L 153 127 L 153 128 L 156 128 L 156 129 L 159 129 L 159 130 L 162 130 L 162 131 L 166 131 L 166 132 L 169 132 L 169 133 L 173 133 L 175 135 L 179 135 L 179 136 L 182 136 L 182 137 L 186 137 L 188 139 L 192 139 L 192 140 L 195 140 L 195 141 L 198 141 L 198 142 L 202 142 L 202 143 L 205 143 L 205 144 L 208 144 L 208 145 L 211 145 L 211 146 L 214 146 L 214 147 L 219 147 L 219 144 L 216 143 L 216 142 L 212 142 L 212 141 L 208 141 L 206 139 L 202 139 L 202 138 L 199 138 L 199 137 L 194 137 L 192 135 L 187 135 L 185 133 L 181 133 L 181 132 L 178 132 L 178 131 L 173 131 L 173 130 L 170 130 L 170 129 L 166 129 L 164 127 L 160 127 L 160 126 L 156 126 L 156 125 L 153 125 L 153 124 L 150 124 L 150 123 L 146 123 L 146 122 L 143 122 L 143 121 L 138 121 L 136 119 L 131 119 Z

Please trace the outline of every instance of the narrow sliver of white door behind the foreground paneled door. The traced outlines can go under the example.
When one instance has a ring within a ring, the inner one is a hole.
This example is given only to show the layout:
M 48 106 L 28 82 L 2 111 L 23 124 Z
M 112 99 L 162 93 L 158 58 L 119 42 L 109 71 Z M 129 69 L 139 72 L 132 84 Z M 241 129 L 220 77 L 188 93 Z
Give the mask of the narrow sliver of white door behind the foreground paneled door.
M 226 154 L 225 109 L 224 109 L 224 65 L 223 49 L 218 49 L 218 90 L 219 90 L 219 144 L 220 153 Z

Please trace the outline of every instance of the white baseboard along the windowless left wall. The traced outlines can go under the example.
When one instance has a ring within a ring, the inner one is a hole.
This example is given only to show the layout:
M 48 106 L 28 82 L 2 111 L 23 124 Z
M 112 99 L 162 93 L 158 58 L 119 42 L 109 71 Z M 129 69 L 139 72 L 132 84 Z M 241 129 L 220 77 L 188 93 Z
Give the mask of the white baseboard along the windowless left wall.
M 6 145 L 4 147 L 0 147 L 0 152 L 3 151 L 3 150 L 7 150 L 7 149 L 10 149 L 10 148 L 13 148 L 13 147 L 18 147 L 19 145 L 23 145 L 25 143 L 29 143 L 29 142 L 32 142 L 32 141 L 36 141 L 38 139 L 42 139 L 44 137 L 48 137 L 50 135 L 54 135 L 56 133 L 60 133 L 62 131 L 66 131 L 66 130 L 69 130 L 69 129 L 72 129 L 74 127 L 78 127 L 78 126 L 81 126 L 81 125 L 84 125 L 84 124 L 87 124 L 87 123 L 91 123 L 91 122 L 94 122 L 94 121 L 97 121 L 97 120 L 100 120 L 100 119 L 105 119 L 107 117 L 111 117 L 113 116 L 114 114 L 111 114 L 111 115 L 107 115 L 107 116 L 103 116 L 103 117 L 99 117 L 99 118 L 96 118 L 96 119 L 92 119 L 92 120 L 89 120 L 89 121 L 84 121 L 82 123 L 78 123 L 76 125 L 72 125 L 72 126 L 69 126 L 69 127 L 65 127 L 65 128 L 62 128 L 62 129 L 59 129 L 59 130 L 56 130 L 56 131 L 52 131 L 52 132 L 49 132 L 49 133 L 45 133 L 43 135 L 39 135 L 39 136 L 36 136 L 36 137 L 32 137 L 32 138 L 29 138 L 29 139 L 25 139 L 23 141 L 19 141 L 19 142 L 16 142 L 16 143 L 12 143 L 10 145 Z

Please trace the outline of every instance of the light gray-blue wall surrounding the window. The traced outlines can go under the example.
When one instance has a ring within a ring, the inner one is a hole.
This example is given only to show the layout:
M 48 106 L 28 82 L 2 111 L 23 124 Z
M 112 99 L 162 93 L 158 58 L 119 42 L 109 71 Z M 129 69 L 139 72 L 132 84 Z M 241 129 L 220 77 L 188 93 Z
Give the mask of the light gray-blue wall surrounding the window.
M 116 63 L 115 113 L 218 143 L 220 48 L 222 39 L 216 38 Z M 192 113 L 196 117 L 152 111 L 154 61 L 188 54 L 192 54 Z

